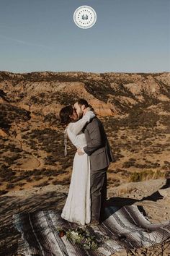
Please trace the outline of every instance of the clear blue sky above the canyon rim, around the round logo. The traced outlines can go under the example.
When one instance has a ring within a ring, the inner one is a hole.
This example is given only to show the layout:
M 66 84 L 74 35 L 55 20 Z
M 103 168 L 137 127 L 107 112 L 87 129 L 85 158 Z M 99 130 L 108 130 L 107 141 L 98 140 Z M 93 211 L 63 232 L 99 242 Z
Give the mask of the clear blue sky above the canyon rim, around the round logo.
M 0 70 L 164 72 L 170 69 L 170 0 L 0 0 Z M 89 5 L 86 30 L 73 12 Z

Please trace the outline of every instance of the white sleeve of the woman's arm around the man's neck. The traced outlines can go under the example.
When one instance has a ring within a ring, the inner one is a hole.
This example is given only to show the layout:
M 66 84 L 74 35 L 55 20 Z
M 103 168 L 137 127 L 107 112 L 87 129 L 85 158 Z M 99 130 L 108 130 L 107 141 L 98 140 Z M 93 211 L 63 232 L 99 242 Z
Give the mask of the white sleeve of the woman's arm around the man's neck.
M 87 111 L 86 114 L 79 120 L 74 123 L 68 124 L 68 130 L 74 135 L 78 135 L 79 132 L 84 128 L 84 125 L 87 124 L 95 116 L 93 111 Z

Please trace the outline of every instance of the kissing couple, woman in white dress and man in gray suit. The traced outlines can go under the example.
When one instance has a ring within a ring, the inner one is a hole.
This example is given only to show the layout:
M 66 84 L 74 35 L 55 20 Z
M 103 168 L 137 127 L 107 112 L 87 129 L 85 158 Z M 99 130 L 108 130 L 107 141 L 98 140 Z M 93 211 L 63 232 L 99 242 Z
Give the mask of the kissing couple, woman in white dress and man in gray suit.
M 76 147 L 68 197 L 61 218 L 97 226 L 104 221 L 107 200 L 107 169 L 113 156 L 102 122 L 89 103 L 81 98 L 60 111 L 67 138 Z

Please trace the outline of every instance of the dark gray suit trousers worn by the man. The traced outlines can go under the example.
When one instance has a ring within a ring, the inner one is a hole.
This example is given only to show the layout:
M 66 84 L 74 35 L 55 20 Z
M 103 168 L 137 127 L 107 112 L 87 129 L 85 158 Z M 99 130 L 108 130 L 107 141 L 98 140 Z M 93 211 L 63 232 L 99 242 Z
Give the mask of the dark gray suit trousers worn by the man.
M 107 168 L 91 171 L 90 174 L 91 221 L 102 222 L 104 220 L 107 200 Z

